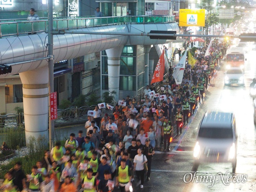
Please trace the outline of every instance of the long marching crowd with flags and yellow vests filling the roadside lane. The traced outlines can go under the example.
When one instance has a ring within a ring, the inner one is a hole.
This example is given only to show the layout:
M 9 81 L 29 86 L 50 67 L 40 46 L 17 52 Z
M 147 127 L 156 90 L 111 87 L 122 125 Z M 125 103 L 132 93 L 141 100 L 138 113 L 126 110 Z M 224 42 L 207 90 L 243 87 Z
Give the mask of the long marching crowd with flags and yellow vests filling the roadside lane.
M 42 160 L 32 166 L 31 175 L 24 175 L 21 163 L 6 173 L 1 186 L 6 192 L 111 192 L 119 187 L 129 191 L 133 185 L 143 188 L 144 175 L 150 180 L 151 162 L 155 150 L 170 151 L 171 137 L 182 133 L 183 126 L 195 113 L 215 69 L 229 44 L 215 39 L 207 47 L 196 50 L 196 63 L 186 59 L 182 84 L 176 84 L 169 70 L 169 80 L 163 81 L 159 93 L 146 86 L 141 101 L 127 96 L 116 105 L 113 113 L 102 117 L 95 107 L 88 116 L 84 130 L 70 134 L 65 145 L 55 143 Z M 125 105 L 126 104 L 126 105 Z M 176 134 L 174 126 L 176 125 Z M 134 175 L 137 175 L 134 181 Z

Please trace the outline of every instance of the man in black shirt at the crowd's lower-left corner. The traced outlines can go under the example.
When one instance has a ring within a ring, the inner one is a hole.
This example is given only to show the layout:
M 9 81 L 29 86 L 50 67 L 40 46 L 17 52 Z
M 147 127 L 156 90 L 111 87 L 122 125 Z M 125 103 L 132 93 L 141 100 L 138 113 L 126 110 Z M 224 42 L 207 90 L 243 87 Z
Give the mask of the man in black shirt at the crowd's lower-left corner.
M 21 162 L 17 162 L 14 166 L 13 184 L 17 186 L 19 191 L 26 189 L 26 175 L 21 170 Z

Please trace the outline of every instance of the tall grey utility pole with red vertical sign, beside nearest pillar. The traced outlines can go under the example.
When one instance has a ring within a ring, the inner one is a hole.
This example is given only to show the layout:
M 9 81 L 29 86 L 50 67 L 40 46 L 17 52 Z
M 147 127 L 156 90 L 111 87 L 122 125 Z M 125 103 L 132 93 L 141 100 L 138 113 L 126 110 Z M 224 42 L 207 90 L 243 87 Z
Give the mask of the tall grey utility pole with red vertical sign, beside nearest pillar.
M 50 93 L 53 93 L 54 87 L 53 87 L 53 34 L 52 34 L 52 26 L 53 26 L 53 17 L 52 17 L 52 0 L 48 0 L 48 56 L 49 62 L 49 95 Z M 52 144 L 54 142 L 54 120 L 51 120 L 51 110 L 50 110 L 50 96 L 49 96 L 49 145 L 50 150 L 52 149 Z

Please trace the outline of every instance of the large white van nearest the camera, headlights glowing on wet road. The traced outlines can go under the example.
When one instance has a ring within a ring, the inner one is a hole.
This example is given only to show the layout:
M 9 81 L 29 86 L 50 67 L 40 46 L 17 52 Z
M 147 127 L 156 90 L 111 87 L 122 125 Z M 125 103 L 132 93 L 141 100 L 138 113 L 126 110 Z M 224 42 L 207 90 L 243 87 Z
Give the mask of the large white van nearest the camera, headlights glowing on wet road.
M 194 148 L 193 170 L 200 163 L 232 163 L 236 171 L 237 133 L 233 113 L 207 111 L 200 122 Z

